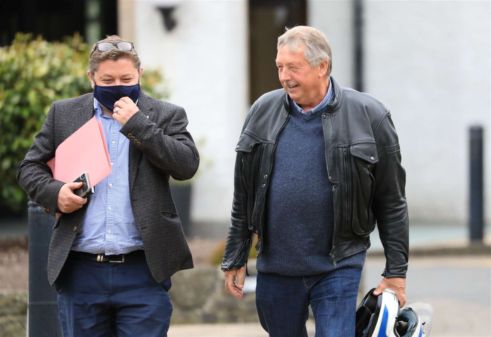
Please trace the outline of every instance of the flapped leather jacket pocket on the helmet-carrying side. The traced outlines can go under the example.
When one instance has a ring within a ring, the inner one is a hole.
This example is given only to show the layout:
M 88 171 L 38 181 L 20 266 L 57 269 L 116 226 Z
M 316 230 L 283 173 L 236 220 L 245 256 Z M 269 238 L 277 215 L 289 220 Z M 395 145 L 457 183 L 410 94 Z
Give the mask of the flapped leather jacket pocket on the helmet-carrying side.
M 361 237 L 375 228 L 372 200 L 375 179 L 372 174 L 379 161 L 375 143 L 359 143 L 344 148 L 346 195 L 348 198 L 346 221 L 348 229 Z

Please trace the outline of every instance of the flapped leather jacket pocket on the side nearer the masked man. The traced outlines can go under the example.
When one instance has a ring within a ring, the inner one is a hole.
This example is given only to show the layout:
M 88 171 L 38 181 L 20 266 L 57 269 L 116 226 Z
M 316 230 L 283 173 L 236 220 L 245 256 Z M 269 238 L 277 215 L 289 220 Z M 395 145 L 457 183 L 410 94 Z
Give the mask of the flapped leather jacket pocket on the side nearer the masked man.
M 260 181 L 259 174 L 263 159 L 264 143 L 247 133 L 242 133 L 235 151 L 240 152 L 242 155 L 241 179 L 246 197 L 247 223 L 250 229 L 257 228 L 257 226 L 253 226 L 253 212 Z

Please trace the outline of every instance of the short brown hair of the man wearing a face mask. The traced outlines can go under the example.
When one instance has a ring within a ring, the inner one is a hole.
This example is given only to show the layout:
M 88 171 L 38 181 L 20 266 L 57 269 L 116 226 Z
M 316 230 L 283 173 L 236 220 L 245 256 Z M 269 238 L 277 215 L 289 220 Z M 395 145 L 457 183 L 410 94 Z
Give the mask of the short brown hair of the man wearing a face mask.
M 117 42 L 122 42 L 125 41 L 121 39 L 117 35 L 110 35 L 106 37 L 104 40 L 98 41 L 100 42 L 112 42 L 112 43 L 117 43 Z M 101 52 L 97 49 L 97 46 L 94 44 L 94 47 L 92 47 L 92 50 L 90 51 L 90 57 L 89 57 L 89 71 L 90 71 L 90 77 L 94 78 L 94 73 L 99 69 L 99 65 L 101 64 L 102 61 L 111 59 L 114 61 L 117 61 L 121 58 L 127 58 L 130 61 L 133 62 L 133 65 L 135 66 L 136 69 L 138 69 L 138 75 L 140 74 L 140 59 L 138 57 L 138 54 L 136 53 L 135 48 L 132 48 L 131 51 L 122 51 L 116 48 L 116 46 L 112 46 L 111 49 L 107 52 Z

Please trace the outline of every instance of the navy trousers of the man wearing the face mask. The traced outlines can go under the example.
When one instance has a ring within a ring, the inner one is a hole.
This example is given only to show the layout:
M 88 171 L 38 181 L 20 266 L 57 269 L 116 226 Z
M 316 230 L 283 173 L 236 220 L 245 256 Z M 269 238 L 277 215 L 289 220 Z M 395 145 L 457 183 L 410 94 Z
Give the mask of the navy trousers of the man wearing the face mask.
M 55 282 L 63 336 L 167 336 L 170 286 L 170 278 L 155 281 L 144 258 L 69 258 Z

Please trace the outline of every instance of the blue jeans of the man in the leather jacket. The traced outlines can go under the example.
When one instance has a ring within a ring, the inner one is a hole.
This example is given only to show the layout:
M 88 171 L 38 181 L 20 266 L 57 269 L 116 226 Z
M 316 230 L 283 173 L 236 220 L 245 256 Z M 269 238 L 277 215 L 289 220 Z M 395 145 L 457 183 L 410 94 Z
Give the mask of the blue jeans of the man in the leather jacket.
M 312 276 L 257 274 L 256 307 L 272 337 L 306 337 L 308 306 L 315 317 L 315 336 L 355 336 L 356 295 L 361 269 L 340 268 Z

